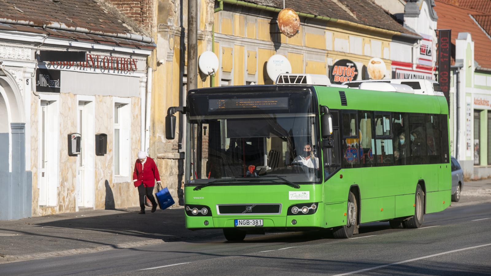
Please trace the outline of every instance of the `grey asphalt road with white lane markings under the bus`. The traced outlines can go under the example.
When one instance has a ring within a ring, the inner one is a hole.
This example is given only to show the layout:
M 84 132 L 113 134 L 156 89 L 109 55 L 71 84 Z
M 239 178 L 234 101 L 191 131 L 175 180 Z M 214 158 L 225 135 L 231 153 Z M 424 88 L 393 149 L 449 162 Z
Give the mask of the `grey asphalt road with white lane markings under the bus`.
M 491 203 L 425 216 L 423 228 L 360 226 L 348 240 L 322 232 L 218 237 L 0 264 L 0 275 L 491 275 Z

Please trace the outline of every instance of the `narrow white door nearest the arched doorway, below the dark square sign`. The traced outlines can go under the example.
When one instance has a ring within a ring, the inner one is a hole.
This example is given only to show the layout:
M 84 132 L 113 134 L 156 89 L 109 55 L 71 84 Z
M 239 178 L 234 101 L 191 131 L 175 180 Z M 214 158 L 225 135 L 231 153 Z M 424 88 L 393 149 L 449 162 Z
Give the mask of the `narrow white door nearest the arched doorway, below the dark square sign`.
M 39 205 L 48 205 L 48 102 L 41 102 L 40 111 Z

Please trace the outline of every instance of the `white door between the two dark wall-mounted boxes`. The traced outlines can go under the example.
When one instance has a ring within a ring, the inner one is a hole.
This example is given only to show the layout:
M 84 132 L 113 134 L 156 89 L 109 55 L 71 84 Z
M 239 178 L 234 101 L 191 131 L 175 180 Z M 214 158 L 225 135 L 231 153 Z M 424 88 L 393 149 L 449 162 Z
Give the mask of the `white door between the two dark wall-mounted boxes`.
M 87 139 L 85 137 L 85 118 L 84 118 L 84 106 L 79 104 L 77 108 L 77 132 L 80 133 L 80 154 L 77 157 L 77 206 L 83 207 L 84 204 L 84 163 L 85 163 L 85 147 L 84 142 Z

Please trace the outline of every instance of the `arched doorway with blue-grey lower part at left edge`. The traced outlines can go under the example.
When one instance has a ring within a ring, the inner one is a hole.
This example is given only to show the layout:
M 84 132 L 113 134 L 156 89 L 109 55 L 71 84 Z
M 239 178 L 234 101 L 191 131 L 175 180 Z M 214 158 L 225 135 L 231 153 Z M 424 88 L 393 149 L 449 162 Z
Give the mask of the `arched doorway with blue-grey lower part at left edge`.
M 8 71 L 0 74 L 0 220 L 15 220 L 31 216 L 32 181 L 21 92 Z

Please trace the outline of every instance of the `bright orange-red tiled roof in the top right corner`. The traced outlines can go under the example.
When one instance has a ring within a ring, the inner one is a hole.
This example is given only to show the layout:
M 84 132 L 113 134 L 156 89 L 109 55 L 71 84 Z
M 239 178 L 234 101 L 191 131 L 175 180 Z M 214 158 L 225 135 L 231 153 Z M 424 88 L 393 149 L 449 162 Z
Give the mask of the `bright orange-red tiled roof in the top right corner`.
M 438 15 L 438 28 L 452 29 L 452 43 L 454 45 L 459 32 L 469 32 L 472 41 L 474 41 L 474 59 L 481 67 L 491 69 L 491 56 L 489 55 L 491 39 L 470 17 L 476 11 L 447 4 L 442 0 L 436 0 L 435 2 L 435 11 Z

